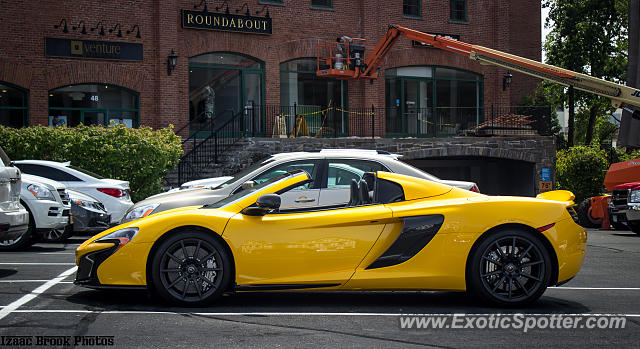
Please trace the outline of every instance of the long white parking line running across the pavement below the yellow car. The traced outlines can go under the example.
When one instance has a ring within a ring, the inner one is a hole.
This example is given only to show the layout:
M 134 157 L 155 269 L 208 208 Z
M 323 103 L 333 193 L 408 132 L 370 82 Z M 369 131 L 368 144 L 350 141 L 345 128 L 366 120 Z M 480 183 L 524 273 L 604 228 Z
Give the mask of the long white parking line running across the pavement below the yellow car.
M 146 311 L 146 310 L 84 310 L 84 309 L 22 309 L 14 310 L 15 313 L 68 313 L 68 314 L 139 314 L 139 315 L 198 315 L 198 316 L 510 316 L 515 314 L 525 314 L 527 316 L 626 316 L 640 318 L 640 314 L 629 313 L 316 313 L 316 312 L 174 312 L 174 311 Z

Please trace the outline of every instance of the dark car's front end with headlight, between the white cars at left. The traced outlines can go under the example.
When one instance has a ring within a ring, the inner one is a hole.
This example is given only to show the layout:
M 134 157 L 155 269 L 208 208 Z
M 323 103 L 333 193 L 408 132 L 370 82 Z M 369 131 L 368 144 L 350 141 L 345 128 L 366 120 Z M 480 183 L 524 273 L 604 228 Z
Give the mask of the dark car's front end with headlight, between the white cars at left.
M 75 233 L 98 233 L 110 227 L 111 215 L 98 199 L 73 189 L 67 189 L 71 200 L 73 224 L 45 233 L 43 240 L 64 241 Z

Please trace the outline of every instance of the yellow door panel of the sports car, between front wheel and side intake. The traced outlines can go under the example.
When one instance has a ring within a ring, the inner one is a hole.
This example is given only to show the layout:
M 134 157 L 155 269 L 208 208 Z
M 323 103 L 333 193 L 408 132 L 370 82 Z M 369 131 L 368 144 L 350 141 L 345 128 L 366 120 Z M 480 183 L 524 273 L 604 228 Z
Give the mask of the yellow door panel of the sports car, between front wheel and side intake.
M 240 213 L 229 220 L 223 238 L 233 250 L 239 285 L 335 286 L 351 277 L 391 216 L 384 205 Z

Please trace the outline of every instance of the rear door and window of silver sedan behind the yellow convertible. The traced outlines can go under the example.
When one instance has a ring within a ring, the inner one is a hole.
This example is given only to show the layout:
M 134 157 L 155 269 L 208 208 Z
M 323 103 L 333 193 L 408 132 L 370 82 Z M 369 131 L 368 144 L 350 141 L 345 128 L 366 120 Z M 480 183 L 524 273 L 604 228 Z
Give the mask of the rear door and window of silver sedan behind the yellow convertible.
M 327 180 L 320 190 L 320 206 L 349 202 L 351 180 L 360 181 L 365 172 L 388 171 L 382 164 L 361 159 L 328 159 Z M 373 189 L 373 188 L 369 188 Z

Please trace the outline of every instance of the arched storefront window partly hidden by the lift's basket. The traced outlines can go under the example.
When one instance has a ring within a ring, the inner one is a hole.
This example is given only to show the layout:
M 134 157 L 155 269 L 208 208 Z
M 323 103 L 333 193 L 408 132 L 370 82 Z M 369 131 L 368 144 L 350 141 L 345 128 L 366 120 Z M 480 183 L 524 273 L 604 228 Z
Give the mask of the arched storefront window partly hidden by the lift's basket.
M 347 100 L 347 82 L 318 77 L 315 58 L 280 64 L 280 105 L 291 110 L 283 113 L 308 114 L 310 132 L 324 127 L 329 133 L 347 134 Z M 322 113 L 330 107 L 330 112 Z

